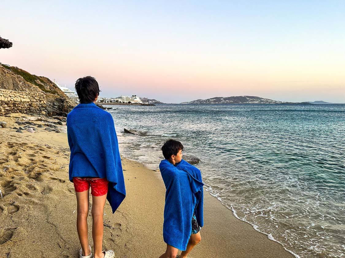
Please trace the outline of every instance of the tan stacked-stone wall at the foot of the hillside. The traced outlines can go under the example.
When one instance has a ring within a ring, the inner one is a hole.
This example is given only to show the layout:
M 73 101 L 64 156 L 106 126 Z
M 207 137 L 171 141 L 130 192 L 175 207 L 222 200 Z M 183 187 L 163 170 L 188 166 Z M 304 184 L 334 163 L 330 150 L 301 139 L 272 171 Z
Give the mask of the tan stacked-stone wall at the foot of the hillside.
M 52 94 L 0 89 L 0 116 L 16 112 L 47 116 L 67 115 L 71 109 L 70 103 L 66 103 L 69 101 L 50 95 Z

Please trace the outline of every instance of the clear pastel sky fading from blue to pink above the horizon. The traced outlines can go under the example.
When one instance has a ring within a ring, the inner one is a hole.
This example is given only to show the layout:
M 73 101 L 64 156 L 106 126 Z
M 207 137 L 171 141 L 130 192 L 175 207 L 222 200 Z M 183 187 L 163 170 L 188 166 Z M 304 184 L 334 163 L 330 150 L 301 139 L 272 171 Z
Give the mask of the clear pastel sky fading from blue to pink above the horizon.
M 55 3 L 54 3 L 55 2 Z M 3 1 L 0 62 L 103 97 L 345 103 L 345 1 Z

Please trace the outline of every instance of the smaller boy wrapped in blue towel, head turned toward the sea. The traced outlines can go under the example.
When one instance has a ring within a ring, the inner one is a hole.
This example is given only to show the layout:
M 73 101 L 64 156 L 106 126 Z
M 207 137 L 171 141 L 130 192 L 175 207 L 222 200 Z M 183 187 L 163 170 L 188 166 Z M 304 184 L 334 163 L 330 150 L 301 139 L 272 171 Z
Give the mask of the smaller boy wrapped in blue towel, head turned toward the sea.
M 164 160 L 159 164 L 166 193 L 163 239 L 167 249 L 159 258 L 185 258 L 200 240 L 204 226 L 203 181 L 201 172 L 182 159 L 183 145 L 168 140 L 162 147 Z

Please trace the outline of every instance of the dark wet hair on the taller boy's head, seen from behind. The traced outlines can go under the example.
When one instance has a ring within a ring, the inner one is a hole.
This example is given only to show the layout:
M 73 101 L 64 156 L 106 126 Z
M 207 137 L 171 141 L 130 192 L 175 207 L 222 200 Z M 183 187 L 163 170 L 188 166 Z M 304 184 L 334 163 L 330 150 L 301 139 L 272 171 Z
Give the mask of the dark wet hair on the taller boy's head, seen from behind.
M 85 104 L 95 101 L 101 92 L 97 80 L 91 76 L 79 78 L 76 81 L 75 89 L 79 97 L 79 102 Z

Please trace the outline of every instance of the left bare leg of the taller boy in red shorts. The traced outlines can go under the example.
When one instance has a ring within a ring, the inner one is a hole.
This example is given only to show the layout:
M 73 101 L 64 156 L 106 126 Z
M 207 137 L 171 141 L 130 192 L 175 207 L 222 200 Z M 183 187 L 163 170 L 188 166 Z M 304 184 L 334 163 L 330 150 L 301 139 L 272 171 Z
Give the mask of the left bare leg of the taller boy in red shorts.
M 89 214 L 89 190 L 76 192 L 77 196 L 77 232 L 82 255 L 90 255 L 87 216 Z

